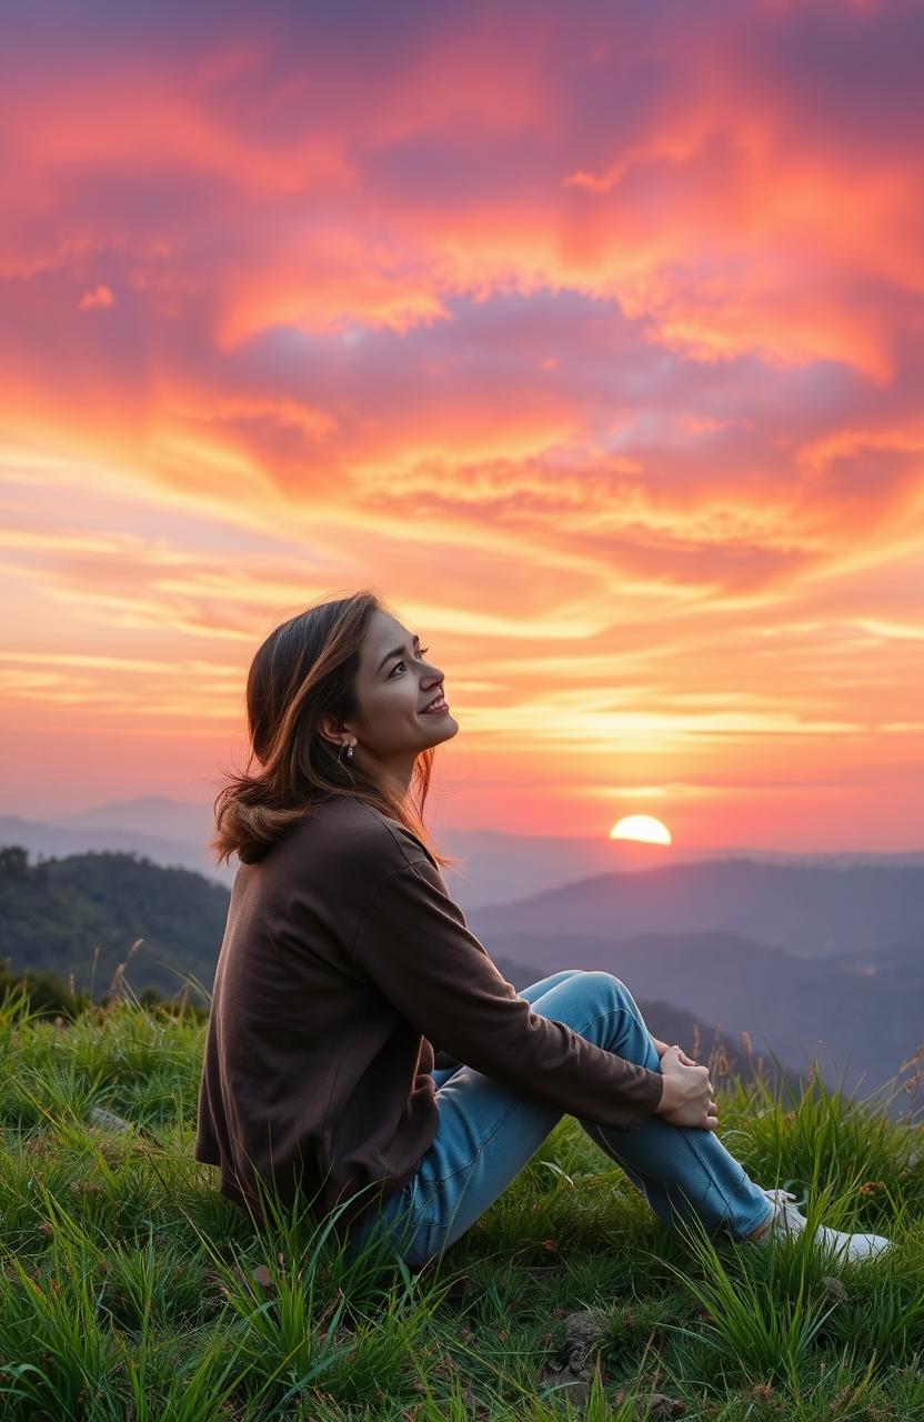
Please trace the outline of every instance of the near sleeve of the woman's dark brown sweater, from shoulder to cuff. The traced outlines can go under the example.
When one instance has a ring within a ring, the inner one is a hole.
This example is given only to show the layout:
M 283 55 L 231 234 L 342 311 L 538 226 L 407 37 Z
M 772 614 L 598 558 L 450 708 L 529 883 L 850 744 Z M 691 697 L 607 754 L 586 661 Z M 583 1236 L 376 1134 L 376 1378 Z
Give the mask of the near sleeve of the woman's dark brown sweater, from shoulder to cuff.
M 597 1047 L 517 997 L 429 860 L 378 886 L 353 960 L 424 1037 L 503 1086 L 621 1130 L 647 1121 L 661 1101 L 661 1072 Z

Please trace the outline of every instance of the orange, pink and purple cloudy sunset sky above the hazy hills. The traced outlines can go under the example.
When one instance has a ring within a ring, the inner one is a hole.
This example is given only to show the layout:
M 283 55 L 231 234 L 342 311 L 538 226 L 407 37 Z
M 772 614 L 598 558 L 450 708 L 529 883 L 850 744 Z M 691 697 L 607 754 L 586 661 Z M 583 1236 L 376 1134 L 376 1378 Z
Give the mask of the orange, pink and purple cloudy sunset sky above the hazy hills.
M 210 801 L 372 587 L 435 830 L 924 849 L 923 6 L 3 28 L 0 813 Z

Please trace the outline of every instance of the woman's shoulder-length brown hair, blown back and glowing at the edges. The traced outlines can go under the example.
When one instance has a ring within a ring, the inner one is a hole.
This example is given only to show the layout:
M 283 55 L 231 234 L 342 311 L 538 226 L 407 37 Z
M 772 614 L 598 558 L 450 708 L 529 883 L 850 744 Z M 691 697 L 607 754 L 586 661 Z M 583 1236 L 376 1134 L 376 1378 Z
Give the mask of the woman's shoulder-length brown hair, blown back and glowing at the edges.
M 424 825 L 434 762 L 432 747 L 418 755 L 408 795 L 398 798 L 345 765 L 318 731 L 327 711 L 341 721 L 357 715 L 360 648 L 374 611 L 390 611 L 370 590 L 313 603 L 281 623 L 257 650 L 247 674 L 250 758 L 230 771 L 215 799 L 217 833 L 209 849 L 217 863 L 236 853 L 242 863 L 263 859 L 281 835 L 310 819 L 324 801 L 353 796 L 390 815 L 415 835 L 438 865 L 458 860 L 436 852 Z M 254 758 L 262 769 L 252 774 Z

